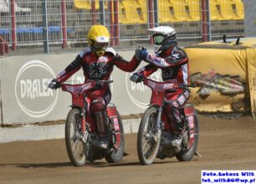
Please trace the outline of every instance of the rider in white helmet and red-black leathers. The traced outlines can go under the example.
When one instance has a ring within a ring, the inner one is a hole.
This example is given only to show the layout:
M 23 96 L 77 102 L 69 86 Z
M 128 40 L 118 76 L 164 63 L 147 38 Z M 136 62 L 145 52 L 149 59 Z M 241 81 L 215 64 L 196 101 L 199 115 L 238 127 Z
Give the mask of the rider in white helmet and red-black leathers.
M 177 84 L 188 83 L 188 59 L 184 50 L 177 47 L 176 32 L 173 28 L 160 26 L 148 29 L 154 41 L 154 52 L 156 55 L 148 54 L 144 48 L 136 49 L 136 57 L 143 59 L 148 65 L 140 69 L 131 78 L 133 81 L 141 82 L 143 77 L 147 77 L 154 73 L 157 69 L 161 69 L 161 77 L 163 81 L 172 81 Z M 171 144 L 177 148 L 182 144 L 182 131 L 184 125 L 179 109 L 185 105 L 189 97 L 188 89 L 180 88 L 176 92 L 166 93 L 166 100 L 169 102 L 165 105 L 166 114 L 175 123 L 174 135 Z M 168 113 L 172 112 L 172 113 Z

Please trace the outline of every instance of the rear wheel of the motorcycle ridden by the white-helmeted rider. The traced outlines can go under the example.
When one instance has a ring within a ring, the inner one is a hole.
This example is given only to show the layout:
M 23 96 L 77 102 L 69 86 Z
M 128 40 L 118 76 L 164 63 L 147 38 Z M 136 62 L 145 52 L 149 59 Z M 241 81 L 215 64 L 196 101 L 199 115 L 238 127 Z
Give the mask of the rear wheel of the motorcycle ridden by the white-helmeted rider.
M 185 148 L 182 148 L 182 151 L 178 152 L 176 157 L 178 161 L 191 161 L 193 156 L 195 155 L 197 151 L 197 144 L 199 141 L 199 125 L 198 125 L 198 120 L 197 120 L 197 113 L 194 114 L 194 120 L 195 120 L 195 129 L 194 129 L 194 134 L 195 134 L 195 140 L 192 145 L 192 147 L 187 150 Z

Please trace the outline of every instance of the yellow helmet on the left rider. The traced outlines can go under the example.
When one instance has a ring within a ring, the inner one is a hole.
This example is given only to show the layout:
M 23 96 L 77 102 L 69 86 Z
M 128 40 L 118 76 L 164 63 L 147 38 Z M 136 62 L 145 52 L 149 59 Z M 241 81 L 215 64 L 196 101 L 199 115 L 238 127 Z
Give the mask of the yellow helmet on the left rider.
M 102 56 L 105 54 L 105 49 L 110 42 L 110 33 L 105 26 L 94 25 L 90 28 L 87 39 L 90 48 L 95 54 Z

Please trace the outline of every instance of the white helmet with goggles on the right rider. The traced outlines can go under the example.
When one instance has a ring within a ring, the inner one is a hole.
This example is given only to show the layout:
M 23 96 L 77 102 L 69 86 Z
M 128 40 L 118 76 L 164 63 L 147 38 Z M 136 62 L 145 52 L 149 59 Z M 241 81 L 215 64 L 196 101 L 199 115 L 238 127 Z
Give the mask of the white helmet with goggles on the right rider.
M 168 26 L 159 26 L 148 29 L 148 33 L 150 33 L 153 37 L 155 44 L 154 52 L 156 54 L 160 54 L 166 49 L 177 45 L 176 32 L 174 28 Z

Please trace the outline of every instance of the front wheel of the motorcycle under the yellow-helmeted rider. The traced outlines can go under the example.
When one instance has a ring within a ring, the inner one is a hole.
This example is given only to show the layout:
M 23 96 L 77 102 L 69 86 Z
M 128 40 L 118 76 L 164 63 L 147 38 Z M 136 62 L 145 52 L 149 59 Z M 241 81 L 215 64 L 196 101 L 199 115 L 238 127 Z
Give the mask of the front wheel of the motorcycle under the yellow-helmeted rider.
M 69 160 L 73 166 L 84 166 L 86 161 L 86 146 L 81 139 L 81 118 L 80 110 L 69 110 L 65 123 L 65 142 Z

